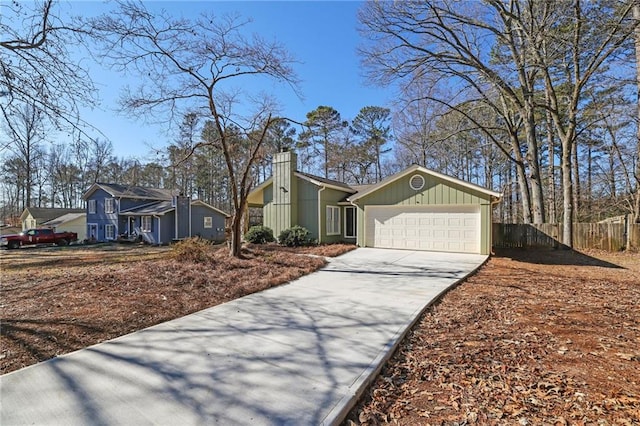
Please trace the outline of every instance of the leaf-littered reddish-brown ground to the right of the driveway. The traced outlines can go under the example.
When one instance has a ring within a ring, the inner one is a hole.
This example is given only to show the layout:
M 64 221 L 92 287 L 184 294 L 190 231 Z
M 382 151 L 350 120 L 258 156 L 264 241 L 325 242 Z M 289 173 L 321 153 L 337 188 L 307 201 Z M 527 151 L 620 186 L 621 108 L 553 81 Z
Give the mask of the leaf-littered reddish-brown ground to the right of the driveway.
M 640 254 L 497 253 L 344 424 L 640 424 Z

